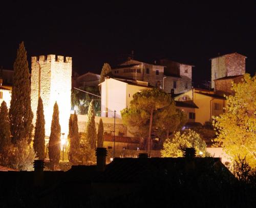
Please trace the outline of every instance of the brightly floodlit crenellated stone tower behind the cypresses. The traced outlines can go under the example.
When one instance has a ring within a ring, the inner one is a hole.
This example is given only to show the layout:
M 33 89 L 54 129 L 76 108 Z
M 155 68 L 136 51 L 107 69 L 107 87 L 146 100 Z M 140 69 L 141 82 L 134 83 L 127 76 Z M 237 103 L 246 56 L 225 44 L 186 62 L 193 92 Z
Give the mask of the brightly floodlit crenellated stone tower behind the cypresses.
M 44 104 L 46 136 L 50 136 L 54 103 L 59 107 L 61 133 L 69 132 L 72 58 L 48 55 L 31 57 L 31 107 L 36 121 L 38 96 Z M 61 136 L 62 138 L 62 136 Z

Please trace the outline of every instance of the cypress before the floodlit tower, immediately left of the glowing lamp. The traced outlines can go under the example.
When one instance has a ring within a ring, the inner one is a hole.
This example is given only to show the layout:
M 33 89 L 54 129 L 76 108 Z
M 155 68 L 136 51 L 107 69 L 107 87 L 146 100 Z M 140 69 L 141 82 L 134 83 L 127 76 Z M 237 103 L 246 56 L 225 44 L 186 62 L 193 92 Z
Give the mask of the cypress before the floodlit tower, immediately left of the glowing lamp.
M 49 158 L 51 169 L 54 170 L 55 166 L 59 163 L 60 158 L 60 125 L 59 125 L 59 108 L 55 102 L 52 114 L 51 133 L 49 138 Z

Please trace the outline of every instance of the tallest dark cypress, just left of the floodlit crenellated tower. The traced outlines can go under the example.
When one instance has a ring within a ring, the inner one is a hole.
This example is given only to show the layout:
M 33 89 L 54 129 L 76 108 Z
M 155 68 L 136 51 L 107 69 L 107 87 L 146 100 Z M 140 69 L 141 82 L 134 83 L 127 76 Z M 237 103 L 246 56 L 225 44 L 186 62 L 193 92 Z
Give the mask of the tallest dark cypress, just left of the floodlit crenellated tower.
M 30 99 L 29 66 L 24 42 L 19 44 L 13 68 L 12 98 L 9 110 L 12 142 L 16 144 L 17 141 L 26 140 L 30 144 L 33 113 Z

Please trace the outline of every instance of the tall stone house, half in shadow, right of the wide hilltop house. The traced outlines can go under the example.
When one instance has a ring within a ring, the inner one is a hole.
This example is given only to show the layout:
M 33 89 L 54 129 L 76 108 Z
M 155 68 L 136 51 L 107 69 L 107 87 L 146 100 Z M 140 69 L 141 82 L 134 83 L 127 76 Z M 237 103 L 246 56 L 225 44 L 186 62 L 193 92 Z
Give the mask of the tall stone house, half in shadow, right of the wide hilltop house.
M 164 66 L 163 88 L 166 93 L 173 89 L 174 94 L 179 94 L 191 89 L 193 65 L 168 59 L 160 59 L 160 65 Z

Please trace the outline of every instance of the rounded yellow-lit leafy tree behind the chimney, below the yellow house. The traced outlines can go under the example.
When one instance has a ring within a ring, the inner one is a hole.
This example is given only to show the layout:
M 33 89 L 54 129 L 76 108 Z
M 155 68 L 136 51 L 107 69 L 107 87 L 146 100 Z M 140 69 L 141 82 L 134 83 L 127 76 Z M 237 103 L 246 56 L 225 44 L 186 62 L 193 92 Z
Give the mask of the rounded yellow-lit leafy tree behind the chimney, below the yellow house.
M 197 156 L 200 155 L 200 151 L 203 152 L 203 156 L 207 155 L 205 142 L 197 132 L 190 129 L 182 133 L 177 131 L 172 138 L 168 138 L 163 144 L 161 154 L 162 157 L 182 157 L 185 148 L 190 147 L 195 148 Z

